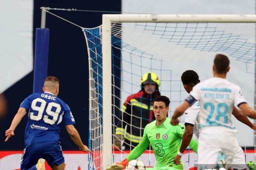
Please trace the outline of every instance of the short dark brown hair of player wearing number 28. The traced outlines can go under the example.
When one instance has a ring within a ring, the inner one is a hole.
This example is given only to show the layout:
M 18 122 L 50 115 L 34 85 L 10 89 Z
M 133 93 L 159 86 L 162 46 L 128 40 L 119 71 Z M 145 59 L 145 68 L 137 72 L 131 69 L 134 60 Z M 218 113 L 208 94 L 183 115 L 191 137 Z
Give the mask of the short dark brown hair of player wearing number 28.
M 226 55 L 216 54 L 214 58 L 214 66 L 217 73 L 227 73 L 229 68 L 229 59 Z

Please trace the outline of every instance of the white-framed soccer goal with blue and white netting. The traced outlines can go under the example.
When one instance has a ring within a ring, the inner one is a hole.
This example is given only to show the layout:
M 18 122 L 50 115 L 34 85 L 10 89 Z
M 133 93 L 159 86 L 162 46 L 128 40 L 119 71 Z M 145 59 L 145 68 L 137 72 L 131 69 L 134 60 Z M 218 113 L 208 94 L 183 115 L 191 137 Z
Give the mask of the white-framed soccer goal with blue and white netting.
M 227 79 L 241 87 L 254 107 L 255 22 L 256 15 L 121 14 L 103 15 L 101 26 L 84 29 L 89 55 L 89 147 L 94 151 L 89 169 L 103 169 L 129 153 L 112 150 L 116 124 L 124 121 L 119 116 L 122 105 L 141 90 L 140 80 L 147 71 L 158 75 L 161 95 L 170 98 L 170 117 L 188 96 L 181 74 L 195 70 L 201 81 L 211 78 L 214 55 L 224 53 L 231 62 Z M 246 161 L 255 161 L 254 131 L 235 118 L 233 123 Z M 187 151 L 182 159 L 184 169 L 197 163 L 194 152 Z M 150 150 L 139 160 L 146 166 L 156 164 Z

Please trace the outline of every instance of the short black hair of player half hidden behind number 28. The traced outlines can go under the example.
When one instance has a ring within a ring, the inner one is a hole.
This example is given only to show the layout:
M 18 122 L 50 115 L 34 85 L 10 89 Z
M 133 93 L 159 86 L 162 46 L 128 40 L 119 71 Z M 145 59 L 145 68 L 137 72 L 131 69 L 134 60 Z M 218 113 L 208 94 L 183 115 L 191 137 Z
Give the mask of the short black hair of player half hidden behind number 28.
M 193 86 L 200 82 L 199 76 L 194 70 L 186 70 L 182 73 L 181 81 L 183 84 L 193 84 Z

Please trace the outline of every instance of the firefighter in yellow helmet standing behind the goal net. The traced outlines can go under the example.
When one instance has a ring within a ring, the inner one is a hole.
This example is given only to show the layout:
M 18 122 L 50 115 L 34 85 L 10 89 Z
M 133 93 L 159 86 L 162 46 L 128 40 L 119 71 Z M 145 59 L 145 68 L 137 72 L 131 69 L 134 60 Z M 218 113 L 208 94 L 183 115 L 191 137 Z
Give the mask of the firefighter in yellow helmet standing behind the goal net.
M 142 76 L 140 85 L 141 90 L 128 96 L 120 109 L 115 150 L 132 150 L 141 141 L 146 124 L 155 120 L 152 104 L 155 97 L 160 96 L 160 80 L 154 72 L 148 71 Z

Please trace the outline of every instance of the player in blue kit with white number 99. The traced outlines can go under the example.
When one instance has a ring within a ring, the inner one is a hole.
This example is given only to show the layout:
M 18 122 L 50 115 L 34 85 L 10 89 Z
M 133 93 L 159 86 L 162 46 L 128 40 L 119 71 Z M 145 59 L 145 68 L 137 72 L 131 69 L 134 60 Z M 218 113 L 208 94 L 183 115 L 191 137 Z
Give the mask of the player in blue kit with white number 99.
M 6 139 L 14 136 L 14 131 L 28 113 L 25 129 L 25 149 L 21 160 L 22 170 L 44 170 L 44 161 L 54 170 L 64 170 L 65 163 L 60 146 L 60 127 L 63 121 L 73 142 L 84 152 L 92 153 L 83 144 L 74 128 L 75 120 L 69 106 L 57 97 L 59 80 L 48 76 L 45 79 L 44 93 L 33 93 L 27 97 L 13 118 L 11 126 L 5 131 Z

